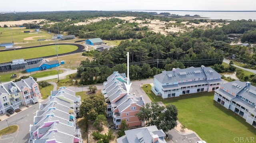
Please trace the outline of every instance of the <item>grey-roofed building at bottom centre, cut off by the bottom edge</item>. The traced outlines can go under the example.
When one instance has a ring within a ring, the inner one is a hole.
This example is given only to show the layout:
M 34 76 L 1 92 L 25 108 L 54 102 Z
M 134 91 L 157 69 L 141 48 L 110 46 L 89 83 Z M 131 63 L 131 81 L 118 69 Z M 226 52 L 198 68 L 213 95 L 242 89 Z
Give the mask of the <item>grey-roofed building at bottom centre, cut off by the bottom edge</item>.
M 116 139 L 117 143 L 166 143 L 166 134 L 162 129 L 157 129 L 156 125 L 130 129 L 124 133 L 124 136 Z

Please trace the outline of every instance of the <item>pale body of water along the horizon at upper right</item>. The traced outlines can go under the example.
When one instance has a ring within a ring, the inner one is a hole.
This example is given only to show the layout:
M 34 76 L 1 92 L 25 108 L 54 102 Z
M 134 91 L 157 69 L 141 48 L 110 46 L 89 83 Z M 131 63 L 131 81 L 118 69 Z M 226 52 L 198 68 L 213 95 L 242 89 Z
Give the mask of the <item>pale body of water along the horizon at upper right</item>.
M 185 16 L 189 14 L 190 16 L 199 15 L 201 17 L 206 17 L 209 19 L 217 20 L 256 20 L 256 12 L 205 12 L 205 11 L 172 11 L 172 10 L 131 10 L 133 12 L 156 12 L 158 14 L 162 12 L 168 12 L 170 14 L 178 14 L 180 16 Z

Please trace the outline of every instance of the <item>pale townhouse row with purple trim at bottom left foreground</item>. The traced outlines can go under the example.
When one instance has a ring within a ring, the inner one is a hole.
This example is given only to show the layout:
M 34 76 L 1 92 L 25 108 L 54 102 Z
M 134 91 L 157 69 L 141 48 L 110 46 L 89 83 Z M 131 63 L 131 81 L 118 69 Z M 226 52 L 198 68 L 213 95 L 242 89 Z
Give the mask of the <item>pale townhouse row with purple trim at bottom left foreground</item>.
M 76 116 L 81 104 L 80 96 L 72 90 L 60 87 L 51 91 L 45 104 L 30 125 L 29 143 L 82 143 L 81 131 L 76 126 Z

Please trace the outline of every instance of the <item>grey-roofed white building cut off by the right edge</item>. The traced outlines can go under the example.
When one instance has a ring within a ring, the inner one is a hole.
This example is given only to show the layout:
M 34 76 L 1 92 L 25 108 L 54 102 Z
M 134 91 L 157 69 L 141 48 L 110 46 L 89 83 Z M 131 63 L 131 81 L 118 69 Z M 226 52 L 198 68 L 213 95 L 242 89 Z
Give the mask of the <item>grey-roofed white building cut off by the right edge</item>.
M 214 100 L 256 127 L 256 87 L 239 80 L 220 85 Z

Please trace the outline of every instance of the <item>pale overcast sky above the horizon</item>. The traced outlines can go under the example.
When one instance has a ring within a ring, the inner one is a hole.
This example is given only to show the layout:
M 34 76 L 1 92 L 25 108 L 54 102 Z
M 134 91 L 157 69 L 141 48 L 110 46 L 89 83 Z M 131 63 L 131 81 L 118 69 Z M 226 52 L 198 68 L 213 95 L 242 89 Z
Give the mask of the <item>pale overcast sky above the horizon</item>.
M 256 10 L 256 0 L 0 0 L 0 12 L 66 10 Z

